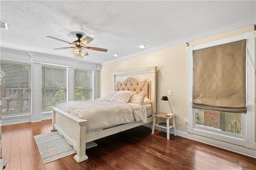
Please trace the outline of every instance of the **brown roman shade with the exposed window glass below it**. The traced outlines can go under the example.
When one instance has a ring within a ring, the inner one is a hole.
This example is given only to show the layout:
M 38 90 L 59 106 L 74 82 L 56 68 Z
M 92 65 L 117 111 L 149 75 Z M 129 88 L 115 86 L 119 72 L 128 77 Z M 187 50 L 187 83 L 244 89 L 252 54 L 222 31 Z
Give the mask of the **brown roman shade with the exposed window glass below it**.
M 192 107 L 196 127 L 242 135 L 245 66 L 246 40 L 193 51 Z

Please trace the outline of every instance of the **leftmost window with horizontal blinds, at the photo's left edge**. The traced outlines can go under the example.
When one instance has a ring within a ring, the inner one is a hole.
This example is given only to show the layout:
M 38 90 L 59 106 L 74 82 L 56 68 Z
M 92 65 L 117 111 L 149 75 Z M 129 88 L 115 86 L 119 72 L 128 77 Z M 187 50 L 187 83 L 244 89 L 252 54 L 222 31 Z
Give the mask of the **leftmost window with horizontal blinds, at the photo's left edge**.
M 31 65 L 1 61 L 2 115 L 31 113 Z

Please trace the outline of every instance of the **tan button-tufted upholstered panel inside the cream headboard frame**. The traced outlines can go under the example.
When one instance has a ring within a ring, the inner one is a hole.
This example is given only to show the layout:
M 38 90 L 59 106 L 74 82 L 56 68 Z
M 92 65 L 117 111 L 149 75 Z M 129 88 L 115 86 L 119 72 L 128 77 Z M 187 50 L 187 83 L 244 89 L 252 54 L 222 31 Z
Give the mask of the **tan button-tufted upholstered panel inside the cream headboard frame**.
M 149 99 L 150 96 L 150 81 L 144 79 L 142 81 L 136 80 L 133 77 L 128 77 L 124 81 L 116 82 L 115 91 L 128 90 L 134 91 L 136 94 L 144 91 L 146 98 Z

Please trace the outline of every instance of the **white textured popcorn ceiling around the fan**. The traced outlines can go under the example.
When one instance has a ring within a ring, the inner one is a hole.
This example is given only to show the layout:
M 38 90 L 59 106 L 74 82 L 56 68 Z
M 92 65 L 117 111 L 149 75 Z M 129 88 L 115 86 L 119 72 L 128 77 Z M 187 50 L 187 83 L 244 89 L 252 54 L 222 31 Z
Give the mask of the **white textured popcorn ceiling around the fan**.
M 255 24 L 256 1 L 3 1 L 1 47 L 74 58 L 67 42 L 94 40 L 81 61 L 108 63 L 239 23 Z M 246 22 L 248 21 L 248 22 Z M 84 36 L 84 37 L 85 37 Z M 83 37 L 83 38 L 84 38 Z M 146 48 L 138 46 L 145 44 Z M 119 54 L 114 57 L 114 54 Z

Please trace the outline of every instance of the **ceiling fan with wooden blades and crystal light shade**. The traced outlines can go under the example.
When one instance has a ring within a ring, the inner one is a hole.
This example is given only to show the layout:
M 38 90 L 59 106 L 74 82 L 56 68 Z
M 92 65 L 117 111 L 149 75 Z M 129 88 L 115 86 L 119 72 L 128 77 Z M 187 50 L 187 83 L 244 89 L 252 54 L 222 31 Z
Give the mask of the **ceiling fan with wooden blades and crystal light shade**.
M 90 38 L 90 37 L 86 37 L 84 38 L 82 41 L 80 40 L 83 35 L 82 34 L 76 34 L 76 37 L 78 38 L 78 40 L 70 43 L 70 42 L 66 42 L 64 40 L 60 40 L 58 38 L 54 38 L 54 37 L 51 37 L 51 36 L 47 36 L 48 38 L 52 38 L 54 40 L 58 40 L 58 41 L 61 41 L 61 42 L 64 42 L 64 43 L 69 43 L 71 45 L 74 45 L 73 47 L 62 47 L 62 48 L 54 48 L 54 49 L 68 49 L 68 48 L 72 48 L 72 53 L 75 55 L 75 57 L 78 57 L 78 58 L 82 58 L 84 57 L 84 55 L 88 55 L 87 51 L 85 49 L 92 49 L 92 50 L 95 50 L 95 51 L 103 51 L 103 52 L 107 52 L 108 49 L 104 49 L 104 48 L 98 48 L 98 47 L 88 47 L 86 46 L 88 43 L 90 43 L 93 39 Z

